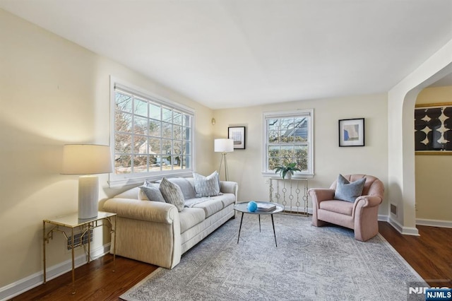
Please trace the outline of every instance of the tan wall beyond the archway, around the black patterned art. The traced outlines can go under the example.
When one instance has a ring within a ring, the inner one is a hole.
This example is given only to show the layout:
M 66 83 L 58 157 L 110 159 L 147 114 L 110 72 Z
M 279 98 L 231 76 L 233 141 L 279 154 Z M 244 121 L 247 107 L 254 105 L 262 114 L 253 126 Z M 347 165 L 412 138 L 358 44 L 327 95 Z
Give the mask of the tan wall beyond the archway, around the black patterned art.
M 452 86 L 425 88 L 417 95 L 416 105 L 452 103 Z M 452 220 L 452 155 L 416 155 L 416 218 Z

